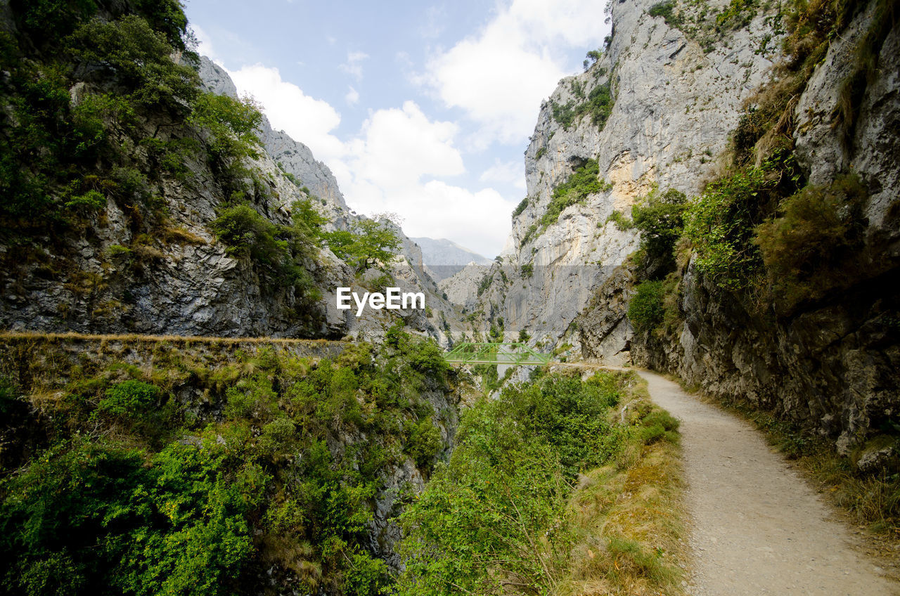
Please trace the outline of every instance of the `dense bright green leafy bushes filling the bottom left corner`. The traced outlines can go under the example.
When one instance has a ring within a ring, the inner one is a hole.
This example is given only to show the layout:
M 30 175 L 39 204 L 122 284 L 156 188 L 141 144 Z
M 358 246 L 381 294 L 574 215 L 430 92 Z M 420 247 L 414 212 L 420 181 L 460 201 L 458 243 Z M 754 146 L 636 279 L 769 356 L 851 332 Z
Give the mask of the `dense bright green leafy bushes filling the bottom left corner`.
M 231 593 L 266 474 L 214 441 L 138 452 L 75 439 L 4 483 L 4 593 Z

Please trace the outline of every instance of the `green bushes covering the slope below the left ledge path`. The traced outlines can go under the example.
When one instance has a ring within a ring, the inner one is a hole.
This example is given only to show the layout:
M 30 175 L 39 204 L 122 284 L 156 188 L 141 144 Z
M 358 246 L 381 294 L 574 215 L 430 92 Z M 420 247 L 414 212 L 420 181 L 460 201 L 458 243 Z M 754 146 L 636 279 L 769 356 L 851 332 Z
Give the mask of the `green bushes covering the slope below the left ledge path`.
M 260 569 L 305 591 L 383 593 L 392 580 L 369 549 L 383 471 L 409 456 L 428 476 L 446 415 L 422 398 L 446 391 L 434 343 L 394 339 L 375 357 L 260 347 L 219 367 L 160 346 L 154 384 L 124 363 L 77 380 L 73 368 L 61 410 L 23 421 L 50 447 L 23 444 L 2 469 L 0 594 L 257 593 Z M 176 387 L 203 398 L 175 400 Z M 0 406 L 18 402 L 9 393 Z M 166 437 L 148 440 L 139 422 L 166 409 Z M 332 451 L 335 437 L 352 439 Z

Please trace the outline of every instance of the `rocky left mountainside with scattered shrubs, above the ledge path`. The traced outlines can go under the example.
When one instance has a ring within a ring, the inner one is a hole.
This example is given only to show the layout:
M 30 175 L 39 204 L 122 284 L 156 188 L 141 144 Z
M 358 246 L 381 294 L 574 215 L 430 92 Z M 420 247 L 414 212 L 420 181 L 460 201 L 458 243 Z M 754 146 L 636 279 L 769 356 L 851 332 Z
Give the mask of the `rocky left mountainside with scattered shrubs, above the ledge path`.
M 68 73 L 53 81 L 52 96 L 62 98 L 53 100 L 59 102 L 56 116 L 37 130 L 57 131 L 64 139 L 92 136 L 71 148 L 53 146 L 46 163 L 29 151 L 47 149 L 27 143 L 6 153 L 13 161 L 31 158 L 31 170 L 25 166 L 20 171 L 27 174 L 12 178 L 0 218 L 0 325 L 219 337 L 383 337 L 392 313 L 367 312 L 357 319 L 337 309 L 335 290 L 349 285 L 362 293 L 391 280 L 373 272 L 356 279 L 354 267 L 296 227 L 295 205 L 305 201 L 325 218 L 323 231 L 353 230 L 364 219 L 347 209 L 329 168 L 302 143 L 273 131 L 265 116 L 254 121 L 258 113 L 238 101 L 227 73 L 208 59 L 178 52 L 175 57 L 182 58 L 173 60 L 166 47 L 148 43 L 142 47 L 148 55 L 139 61 L 115 62 L 132 51 L 128 40 L 150 33 L 133 17 L 107 21 L 116 13 L 103 14 L 92 25 L 97 32 L 83 33 L 100 36 L 92 50 L 96 56 L 81 50 L 79 40 L 52 38 L 41 42 L 37 59 L 19 59 L 4 79 L 5 95 L 27 96 L 29 68 L 63 65 L 53 67 Z M 4 30 L 13 35 L 22 33 L 17 27 L 31 26 L 9 11 L 2 16 Z M 27 34 L 38 39 L 40 33 Z M 153 83 L 147 81 L 161 75 L 132 73 L 131 64 L 155 68 L 171 80 L 148 91 Z M 147 94 L 162 99 L 148 103 Z M 4 122 L 39 125 L 31 122 L 43 113 L 14 105 L 28 104 L 10 103 Z M 66 126 L 73 131 L 60 129 Z M 23 128 L 9 130 L 15 139 Z M 43 212 L 34 209 L 40 202 Z M 394 230 L 403 254 L 390 265 L 392 278 L 402 291 L 427 293 L 431 313 L 400 316 L 410 329 L 446 343 L 446 319 L 434 312 L 453 309 L 425 272 L 419 248 Z M 231 244 L 222 233 L 230 234 Z

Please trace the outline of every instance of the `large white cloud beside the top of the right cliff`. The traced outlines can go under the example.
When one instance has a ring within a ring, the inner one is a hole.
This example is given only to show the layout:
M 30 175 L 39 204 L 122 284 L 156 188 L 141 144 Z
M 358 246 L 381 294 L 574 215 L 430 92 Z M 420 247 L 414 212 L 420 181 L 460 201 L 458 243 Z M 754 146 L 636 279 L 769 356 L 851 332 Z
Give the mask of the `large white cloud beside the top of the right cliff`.
M 514 0 L 481 32 L 431 59 L 419 81 L 479 122 L 489 140 L 522 142 L 567 74 L 564 50 L 593 49 L 607 33 L 596 0 Z

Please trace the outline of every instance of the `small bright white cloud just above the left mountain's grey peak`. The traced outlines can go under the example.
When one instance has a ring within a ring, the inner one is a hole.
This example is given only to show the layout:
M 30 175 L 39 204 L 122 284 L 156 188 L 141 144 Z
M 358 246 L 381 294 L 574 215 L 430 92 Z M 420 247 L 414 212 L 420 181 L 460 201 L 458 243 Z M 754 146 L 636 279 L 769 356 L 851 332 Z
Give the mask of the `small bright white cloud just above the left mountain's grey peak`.
M 238 92 L 253 95 L 263 105 L 275 130 L 283 130 L 308 145 L 317 159 L 328 162 L 344 155 L 343 143 L 331 134 L 340 124 L 340 114 L 330 104 L 282 80 L 278 68 L 256 64 L 229 71 L 229 75 Z

